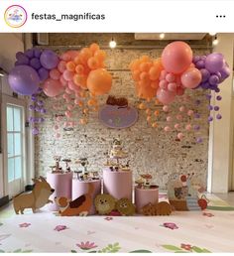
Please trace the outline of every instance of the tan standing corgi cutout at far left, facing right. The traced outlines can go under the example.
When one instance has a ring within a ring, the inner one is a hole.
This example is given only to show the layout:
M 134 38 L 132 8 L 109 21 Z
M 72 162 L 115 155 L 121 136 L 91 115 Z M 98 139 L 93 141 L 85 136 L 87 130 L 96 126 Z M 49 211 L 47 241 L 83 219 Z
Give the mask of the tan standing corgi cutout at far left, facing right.
M 49 202 L 53 202 L 49 199 L 51 194 L 55 192 L 51 188 L 50 184 L 40 177 L 40 179 L 32 179 L 35 183 L 33 192 L 19 194 L 13 197 L 13 206 L 16 214 L 24 214 L 24 209 L 32 208 L 33 212 L 36 212 L 36 209 L 43 207 Z

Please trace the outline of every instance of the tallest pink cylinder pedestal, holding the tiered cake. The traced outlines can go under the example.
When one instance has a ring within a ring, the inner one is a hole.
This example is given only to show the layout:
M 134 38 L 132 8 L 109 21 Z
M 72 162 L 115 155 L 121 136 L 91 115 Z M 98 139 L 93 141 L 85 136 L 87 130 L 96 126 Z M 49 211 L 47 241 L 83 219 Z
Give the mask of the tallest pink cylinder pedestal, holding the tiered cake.
M 131 171 L 111 172 L 103 169 L 103 192 L 116 199 L 129 198 L 132 201 L 133 178 Z

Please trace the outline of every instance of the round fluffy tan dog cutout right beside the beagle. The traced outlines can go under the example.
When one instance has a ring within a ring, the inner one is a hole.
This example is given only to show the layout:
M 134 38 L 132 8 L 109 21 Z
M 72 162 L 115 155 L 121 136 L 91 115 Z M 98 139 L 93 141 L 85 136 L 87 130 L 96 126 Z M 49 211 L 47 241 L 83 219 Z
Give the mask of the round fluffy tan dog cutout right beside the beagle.
M 115 209 L 116 199 L 107 193 L 97 194 L 94 203 L 96 211 L 100 215 L 109 214 L 113 209 Z

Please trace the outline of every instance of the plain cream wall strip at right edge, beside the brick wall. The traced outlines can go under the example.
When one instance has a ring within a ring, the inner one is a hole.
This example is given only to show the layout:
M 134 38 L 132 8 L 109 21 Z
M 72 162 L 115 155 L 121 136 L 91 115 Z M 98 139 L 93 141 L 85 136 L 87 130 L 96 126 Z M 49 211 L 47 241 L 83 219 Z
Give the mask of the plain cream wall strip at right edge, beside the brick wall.
M 233 70 L 234 34 L 219 34 L 219 44 L 213 52 L 220 52 Z M 210 123 L 208 191 L 228 192 L 231 189 L 233 158 L 233 75 L 220 85 L 221 101 L 213 97 L 212 105 L 219 105 L 222 119 Z

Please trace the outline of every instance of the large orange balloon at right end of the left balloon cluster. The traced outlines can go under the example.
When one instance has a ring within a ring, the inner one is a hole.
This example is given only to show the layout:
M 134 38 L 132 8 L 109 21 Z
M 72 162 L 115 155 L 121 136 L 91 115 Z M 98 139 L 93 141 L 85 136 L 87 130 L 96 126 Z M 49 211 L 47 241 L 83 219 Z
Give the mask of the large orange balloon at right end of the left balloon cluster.
M 112 76 L 104 68 L 90 71 L 87 77 L 87 88 L 93 95 L 102 95 L 111 89 Z

